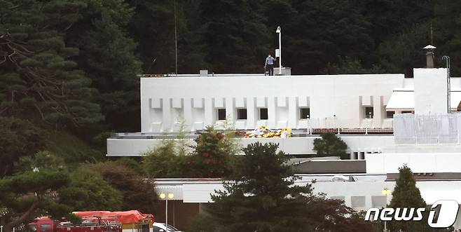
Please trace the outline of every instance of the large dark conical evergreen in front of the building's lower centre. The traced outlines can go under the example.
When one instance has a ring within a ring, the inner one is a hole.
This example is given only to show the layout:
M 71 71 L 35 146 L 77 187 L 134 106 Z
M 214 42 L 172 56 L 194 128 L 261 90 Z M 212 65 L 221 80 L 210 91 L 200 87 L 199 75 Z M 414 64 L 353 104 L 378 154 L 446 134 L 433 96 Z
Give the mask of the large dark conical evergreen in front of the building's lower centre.
M 249 144 L 224 190 L 212 195 L 209 215 L 223 231 L 371 231 L 342 201 L 313 195 L 310 184 L 294 184 L 289 157 L 277 148 Z

